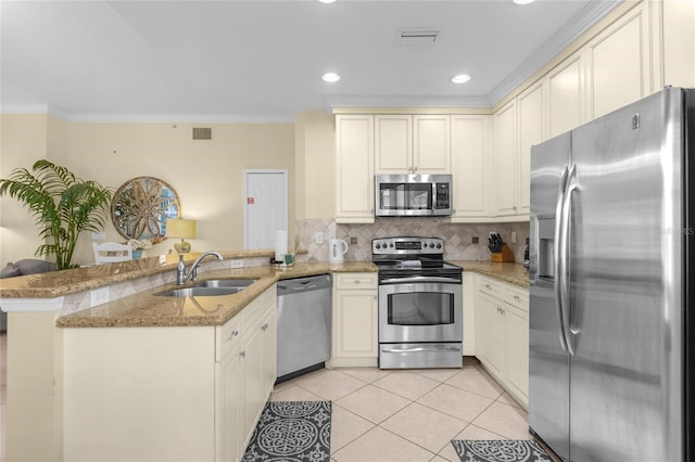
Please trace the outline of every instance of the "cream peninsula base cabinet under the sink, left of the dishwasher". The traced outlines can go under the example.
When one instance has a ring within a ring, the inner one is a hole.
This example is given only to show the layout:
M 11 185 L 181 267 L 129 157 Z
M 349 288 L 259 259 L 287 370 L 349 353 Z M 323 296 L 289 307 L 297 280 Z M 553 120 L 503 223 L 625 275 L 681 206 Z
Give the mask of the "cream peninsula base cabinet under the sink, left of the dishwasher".
M 276 290 L 220 326 L 63 335 L 63 460 L 239 461 L 276 373 Z

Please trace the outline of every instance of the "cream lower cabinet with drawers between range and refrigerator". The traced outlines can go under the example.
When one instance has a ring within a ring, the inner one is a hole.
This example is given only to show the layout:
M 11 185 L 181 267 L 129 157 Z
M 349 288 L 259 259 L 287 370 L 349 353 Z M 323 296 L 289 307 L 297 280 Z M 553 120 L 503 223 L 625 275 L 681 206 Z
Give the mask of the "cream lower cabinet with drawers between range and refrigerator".
M 529 402 L 528 290 L 483 275 L 476 294 L 476 356 L 525 408 Z

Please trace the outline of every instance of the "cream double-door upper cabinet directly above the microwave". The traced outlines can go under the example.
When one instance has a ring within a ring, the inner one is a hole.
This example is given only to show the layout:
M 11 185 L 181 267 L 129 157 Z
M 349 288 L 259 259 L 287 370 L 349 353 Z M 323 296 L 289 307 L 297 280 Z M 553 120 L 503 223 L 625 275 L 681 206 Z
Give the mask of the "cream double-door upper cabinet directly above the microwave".
M 448 115 L 375 116 L 375 172 L 451 172 Z

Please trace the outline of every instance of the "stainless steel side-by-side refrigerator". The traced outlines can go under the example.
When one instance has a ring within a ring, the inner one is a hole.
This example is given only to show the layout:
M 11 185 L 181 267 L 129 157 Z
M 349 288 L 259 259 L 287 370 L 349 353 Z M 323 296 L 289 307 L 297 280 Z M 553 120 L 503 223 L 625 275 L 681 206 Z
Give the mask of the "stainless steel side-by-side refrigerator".
M 695 460 L 695 90 L 531 151 L 531 431 L 566 461 Z

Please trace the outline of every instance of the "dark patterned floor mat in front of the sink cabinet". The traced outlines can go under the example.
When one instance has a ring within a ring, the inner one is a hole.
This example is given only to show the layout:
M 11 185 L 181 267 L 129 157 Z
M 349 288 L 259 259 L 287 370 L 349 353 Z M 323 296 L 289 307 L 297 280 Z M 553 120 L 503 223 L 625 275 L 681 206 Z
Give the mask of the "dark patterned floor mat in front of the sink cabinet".
M 265 406 L 244 462 L 328 462 L 330 401 L 270 401 Z

